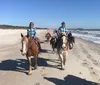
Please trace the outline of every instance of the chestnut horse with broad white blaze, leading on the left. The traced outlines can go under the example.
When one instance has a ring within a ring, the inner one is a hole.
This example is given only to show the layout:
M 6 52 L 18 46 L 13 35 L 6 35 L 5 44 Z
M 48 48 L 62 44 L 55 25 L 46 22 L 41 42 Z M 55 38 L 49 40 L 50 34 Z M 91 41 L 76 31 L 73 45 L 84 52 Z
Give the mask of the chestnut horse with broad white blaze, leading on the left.
M 34 59 L 35 59 L 34 69 L 37 69 L 37 58 L 38 58 L 38 52 L 39 52 L 38 44 L 36 43 L 36 41 L 32 37 L 27 37 L 27 36 L 24 36 L 23 34 L 21 34 L 21 37 L 22 37 L 21 53 L 22 53 L 22 55 L 26 55 L 26 58 L 27 58 L 28 63 L 29 63 L 28 74 L 31 75 L 32 74 L 32 63 L 31 63 L 30 56 L 34 56 Z

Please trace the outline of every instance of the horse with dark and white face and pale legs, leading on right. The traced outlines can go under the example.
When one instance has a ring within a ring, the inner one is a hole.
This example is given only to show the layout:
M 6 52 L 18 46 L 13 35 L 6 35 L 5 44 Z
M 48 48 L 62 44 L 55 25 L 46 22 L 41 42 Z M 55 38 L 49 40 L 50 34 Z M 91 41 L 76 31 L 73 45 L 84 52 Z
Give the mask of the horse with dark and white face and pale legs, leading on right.
M 61 69 L 64 70 L 68 56 L 68 40 L 65 33 L 62 33 L 57 40 L 57 53 L 61 62 Z

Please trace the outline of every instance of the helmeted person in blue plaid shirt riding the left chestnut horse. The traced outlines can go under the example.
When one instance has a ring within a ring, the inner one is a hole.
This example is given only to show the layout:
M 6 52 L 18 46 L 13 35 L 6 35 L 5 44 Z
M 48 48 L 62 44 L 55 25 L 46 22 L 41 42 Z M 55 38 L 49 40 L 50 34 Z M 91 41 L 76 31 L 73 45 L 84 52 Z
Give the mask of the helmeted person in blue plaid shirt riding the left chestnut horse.
M 39 42 L 38 38 L 36 37 L 36 28 L 34 27 L 33 22 L 30 22 L 30 24 L 29 24 L 29 28 L 27 29 L 27 36 L 33 37 L 38 42 L 39 51 L 40 51 L 41 50 L 41 45 L 40 45 L 40 42 Z

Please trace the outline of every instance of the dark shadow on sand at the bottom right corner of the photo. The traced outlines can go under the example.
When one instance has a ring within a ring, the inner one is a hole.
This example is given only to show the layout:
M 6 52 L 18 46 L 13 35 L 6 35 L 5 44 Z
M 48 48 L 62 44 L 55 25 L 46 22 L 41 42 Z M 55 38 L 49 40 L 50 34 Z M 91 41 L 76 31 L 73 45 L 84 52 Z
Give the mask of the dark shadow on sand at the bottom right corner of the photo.
M 64 80 L 47 77 L 44 77 L 44 79 L 54 83 L 55 85 L 100 85 L 99 83 L 87 81 L 73 75 L 66 76 Z

